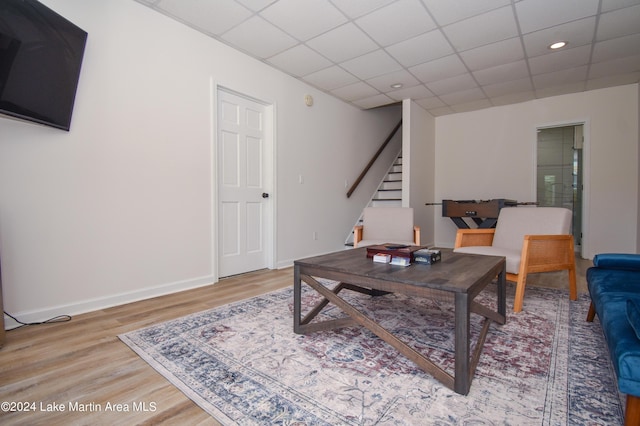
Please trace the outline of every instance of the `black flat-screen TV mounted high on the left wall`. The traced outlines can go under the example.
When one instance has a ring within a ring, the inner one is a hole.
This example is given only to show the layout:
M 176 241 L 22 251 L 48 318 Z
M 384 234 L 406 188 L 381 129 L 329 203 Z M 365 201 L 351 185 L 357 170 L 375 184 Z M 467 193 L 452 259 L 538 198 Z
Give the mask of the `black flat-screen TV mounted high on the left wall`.
M 68 131 L 86 41 L 36 0 L 0 0 L 0 113 Z

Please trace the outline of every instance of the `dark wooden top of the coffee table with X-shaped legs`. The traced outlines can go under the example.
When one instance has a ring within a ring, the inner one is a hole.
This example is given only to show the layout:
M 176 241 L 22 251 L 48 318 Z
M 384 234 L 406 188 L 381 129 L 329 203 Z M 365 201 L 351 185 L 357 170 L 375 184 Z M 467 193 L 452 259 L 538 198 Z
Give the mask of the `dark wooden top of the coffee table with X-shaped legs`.
M 500 256 L 443 251 L 442 260 L 435 264 L 399 266 L 374 262 L 367 258 L 366 247 L 362 247 L 296 260 L 294 265 L 305 270 L 317 268 L 334 272 L 337 276 L 362 277 L 451 293 L 476 293 L 481 290 L 477 286 L 484 287 L 487 279 L 495 278 L 502 271 L 504 262 L 505 258 Z M 327 277 L 326 274 L 322 276 Z

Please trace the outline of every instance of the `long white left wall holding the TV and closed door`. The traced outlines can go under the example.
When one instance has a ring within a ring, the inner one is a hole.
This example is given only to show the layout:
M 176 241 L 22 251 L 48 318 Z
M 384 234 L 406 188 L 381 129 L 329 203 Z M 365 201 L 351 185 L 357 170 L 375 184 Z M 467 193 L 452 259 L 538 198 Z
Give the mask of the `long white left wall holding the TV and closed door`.
M 350 107 L 131 0 L 43 3 L 89 37 L 71 132 L 0 118 L 6 311 L 44 320 L 216 280 L 218 84 L 275 106 L 273 263 L 343 247 L 382 175 L 349 200 L 345 180 L 399 108 Z

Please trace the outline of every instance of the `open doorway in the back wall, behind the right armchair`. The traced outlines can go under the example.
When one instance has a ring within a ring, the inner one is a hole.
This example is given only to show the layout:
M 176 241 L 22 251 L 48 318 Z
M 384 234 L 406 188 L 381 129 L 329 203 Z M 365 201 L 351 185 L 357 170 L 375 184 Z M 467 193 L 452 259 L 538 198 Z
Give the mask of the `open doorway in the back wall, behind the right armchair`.
M 575 251 L 582 250 L 584 124 L 538 129 L 536 201 L 573 212 Z

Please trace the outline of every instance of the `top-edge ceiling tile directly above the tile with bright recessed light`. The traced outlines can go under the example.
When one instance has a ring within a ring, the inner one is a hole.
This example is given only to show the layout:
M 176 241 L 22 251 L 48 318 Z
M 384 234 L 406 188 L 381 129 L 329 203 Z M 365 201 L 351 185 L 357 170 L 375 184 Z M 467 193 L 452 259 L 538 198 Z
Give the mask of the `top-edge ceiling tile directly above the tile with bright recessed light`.
M 523 0 L 515 4 L 523 34 L 593 16 L 599 0 Z

